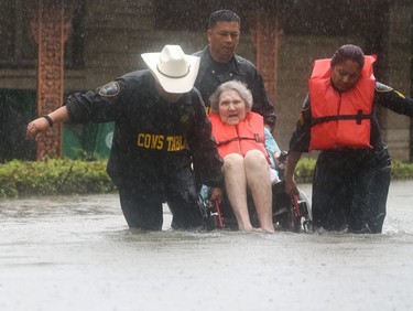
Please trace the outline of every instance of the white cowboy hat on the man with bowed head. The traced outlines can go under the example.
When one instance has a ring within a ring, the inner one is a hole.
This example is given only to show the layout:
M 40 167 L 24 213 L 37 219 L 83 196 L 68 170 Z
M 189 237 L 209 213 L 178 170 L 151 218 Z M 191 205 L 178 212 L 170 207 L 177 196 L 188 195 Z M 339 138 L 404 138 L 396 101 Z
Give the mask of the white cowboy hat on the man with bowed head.
M 180 45 L 165 45 L 161 53 L 143 53 L 143 61 L 167 93 L 187 93 L 195 83 L 199 57 L 185 55 Z

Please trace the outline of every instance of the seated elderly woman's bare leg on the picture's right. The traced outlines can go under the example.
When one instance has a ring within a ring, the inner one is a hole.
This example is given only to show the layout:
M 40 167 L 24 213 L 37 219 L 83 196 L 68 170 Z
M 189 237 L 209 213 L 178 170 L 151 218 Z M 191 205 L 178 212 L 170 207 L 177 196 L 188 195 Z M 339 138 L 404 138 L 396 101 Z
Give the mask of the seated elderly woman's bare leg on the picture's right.
M 264 154 L 259 150 L 251 150 L 246 154 L 244 165 L 247 183 L 256 204 L 260 228 L 273 233 L 270 167 Z

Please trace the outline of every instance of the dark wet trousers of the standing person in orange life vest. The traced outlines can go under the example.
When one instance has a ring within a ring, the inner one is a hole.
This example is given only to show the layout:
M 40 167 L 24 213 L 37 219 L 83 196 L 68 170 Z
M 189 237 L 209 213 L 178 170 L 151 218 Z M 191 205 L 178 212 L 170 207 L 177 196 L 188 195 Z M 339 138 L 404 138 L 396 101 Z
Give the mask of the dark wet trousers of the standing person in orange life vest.
M 381 233 L 391 159 L 374 150 L 322 151 L 313 180 L 313 222 L 327 230 Z

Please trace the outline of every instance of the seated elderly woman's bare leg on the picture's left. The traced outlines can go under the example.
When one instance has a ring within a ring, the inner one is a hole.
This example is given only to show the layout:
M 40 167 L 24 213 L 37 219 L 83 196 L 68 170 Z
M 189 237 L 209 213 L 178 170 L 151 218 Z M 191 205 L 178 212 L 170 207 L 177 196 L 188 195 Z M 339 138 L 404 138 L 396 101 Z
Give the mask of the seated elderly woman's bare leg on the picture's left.
M 247 179 L 242 156 L 237 153 L 226 156 L 222 171 L 228 200 L 236 215 L 238 228 L 252 230 L 247 205 Z

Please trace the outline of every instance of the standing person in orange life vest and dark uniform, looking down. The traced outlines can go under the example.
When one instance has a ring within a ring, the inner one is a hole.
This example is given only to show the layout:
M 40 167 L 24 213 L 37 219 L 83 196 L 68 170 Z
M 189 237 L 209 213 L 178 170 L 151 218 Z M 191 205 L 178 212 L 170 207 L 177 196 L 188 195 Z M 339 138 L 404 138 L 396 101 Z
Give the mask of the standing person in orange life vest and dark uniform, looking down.
M 296 129 L 290 140 L 285 191 L 296 193 L 302 152 L 322 150 L 313 179 L 313 223 L 318 230 L 381 233 L 391 158 L 374 106 L 413 117 L 413 100 L 376 81 L 376 56 L 339 47 L 314 64 Z

